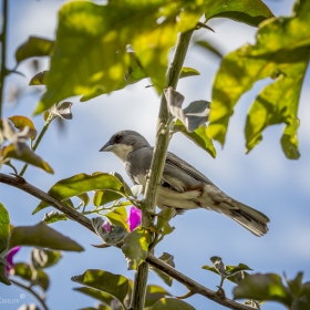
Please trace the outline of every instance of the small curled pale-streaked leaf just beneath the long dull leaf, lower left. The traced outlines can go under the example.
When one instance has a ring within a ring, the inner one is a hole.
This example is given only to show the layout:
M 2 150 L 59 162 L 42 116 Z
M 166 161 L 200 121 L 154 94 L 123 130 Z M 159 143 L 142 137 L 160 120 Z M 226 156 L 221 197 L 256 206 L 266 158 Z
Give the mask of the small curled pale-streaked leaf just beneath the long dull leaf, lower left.
M 37 269 L 49 268 L 62 258 L 60 251 L 42 250 L 33 248 L 31 251 L 31 265 Z

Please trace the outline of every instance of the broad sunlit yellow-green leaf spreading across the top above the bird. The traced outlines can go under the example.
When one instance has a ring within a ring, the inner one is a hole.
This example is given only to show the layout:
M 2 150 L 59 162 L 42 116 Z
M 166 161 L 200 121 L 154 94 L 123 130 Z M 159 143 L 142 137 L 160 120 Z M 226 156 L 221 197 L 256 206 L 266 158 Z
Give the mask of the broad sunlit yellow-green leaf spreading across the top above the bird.
M 250 24 L 272 16 L 260 0 L 247 1 L 246 6 L 237 0 L 228 2 L 229 6 L 221 7 L 211 0 L 64 4 L 59 12 L 55 52 L 45 79 L 48 91 L 35 113 L 72 95 L 84 94 L 83 100 L 87 100 L 121 89 L 130 73 L 127 45 L 133 48 L 145 74 L 161 93 L 177 32 L 193 29 L 206 10 L 208 19 L 224 14 Z

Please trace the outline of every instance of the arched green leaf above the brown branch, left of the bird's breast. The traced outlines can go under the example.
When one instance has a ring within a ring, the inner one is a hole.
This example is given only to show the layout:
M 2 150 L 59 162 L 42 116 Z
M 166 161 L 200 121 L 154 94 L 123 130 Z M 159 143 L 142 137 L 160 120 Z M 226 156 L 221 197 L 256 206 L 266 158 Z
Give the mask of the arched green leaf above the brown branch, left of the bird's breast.
M 108 189 L 124 193 L 124 185 L 117 177 L 111 174 L 78 174 L 72 177 L 59 180 L 50 188 L 48 194 L 53 196 L 54 198 L 64 200 L 96 189 Z M 48 206 L 49 205 L 46 203 L 41 202 L 32 214 L 35 214 Z

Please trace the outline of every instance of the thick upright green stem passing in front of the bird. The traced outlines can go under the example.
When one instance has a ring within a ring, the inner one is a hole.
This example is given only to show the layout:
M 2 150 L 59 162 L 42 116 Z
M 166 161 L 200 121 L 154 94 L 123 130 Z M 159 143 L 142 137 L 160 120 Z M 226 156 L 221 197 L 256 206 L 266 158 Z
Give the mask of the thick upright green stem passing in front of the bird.
M 182 33 L 178 37 L 174 58 L 167 73 L 166 87 L 172 86 L 174 90 L 176 89 L 192 34 L 193 30 Z M 144 227 L 152 227 L 153 225 L 152 216 L 155 213 L 157 185 L 161 183 L 169 142 L 169 131 L 166 131 L 165 128 L 166 126 L 168 126 L 170 118 L 172 115 L 168 112 L 166 99 L 164 95 L 162 95 L 157 122 L 156 143 L 149 169 L 149 179 L 146 183 L 145 197 L 142 203 L 142 226 Z M 134 280 L 134 289 L 131 303 L 131 309 L 133 310 L 144 309 L 147 276 L 148 264 L 143 262 L 138 267 Z

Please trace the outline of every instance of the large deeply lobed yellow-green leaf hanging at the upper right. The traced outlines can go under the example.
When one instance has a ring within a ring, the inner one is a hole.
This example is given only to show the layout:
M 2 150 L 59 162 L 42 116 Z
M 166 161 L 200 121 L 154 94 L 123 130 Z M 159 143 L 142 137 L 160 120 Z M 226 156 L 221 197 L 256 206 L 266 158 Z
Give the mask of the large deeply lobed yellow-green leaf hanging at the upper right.
M 309 62 L 310 1 L 291 18 L 270 19 L 260 24 L 257 42 L 226 55 L 213 87 L 208 135 L 225 143 L 229 117 L 240 96 L 258 80 L 277 79 L 252 104 L 246 125 L 248 152 L 269 125 L 285 123 L 282 148 L 298 158 L 297 118 L 302 81 Z M 299 7 L 296 7 L 296 10 Z

